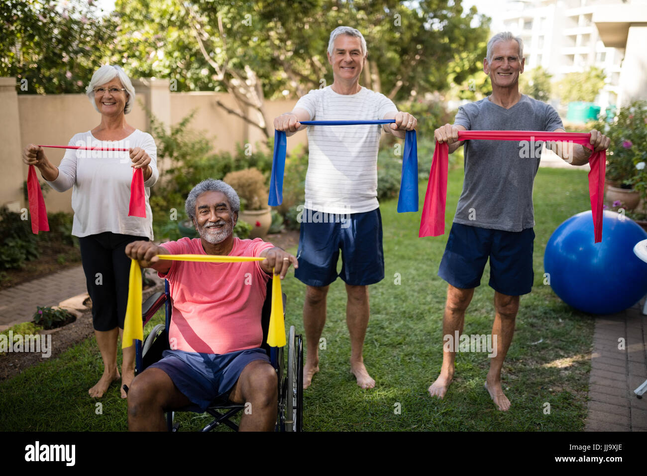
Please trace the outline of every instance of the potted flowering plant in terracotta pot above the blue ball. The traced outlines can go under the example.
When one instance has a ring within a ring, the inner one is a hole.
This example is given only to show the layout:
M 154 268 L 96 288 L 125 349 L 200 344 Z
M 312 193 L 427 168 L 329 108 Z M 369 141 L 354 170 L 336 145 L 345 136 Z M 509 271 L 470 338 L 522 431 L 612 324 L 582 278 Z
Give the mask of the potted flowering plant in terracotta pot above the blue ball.
M 605 198 L 633 210 L 647 194 L 647 101 L 620 109 L 602 130 L 611 139 L 607 153 Z

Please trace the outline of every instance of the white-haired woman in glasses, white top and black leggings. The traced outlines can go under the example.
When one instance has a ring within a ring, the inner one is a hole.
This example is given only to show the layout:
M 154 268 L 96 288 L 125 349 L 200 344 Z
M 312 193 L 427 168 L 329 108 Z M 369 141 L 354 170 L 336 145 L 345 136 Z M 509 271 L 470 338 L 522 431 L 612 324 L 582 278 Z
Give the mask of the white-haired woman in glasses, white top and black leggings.
M 135 371 L 135 347 L 124 349 L 121 375 L 117 368 L 117 336 L 124 330 L 130 260 L 124 250 L 136 240 L 153 239 L 153 218 L 148 203 L 150 187 L 159 177 L 157 146 L 150 134 L 129 126 L 125 115 L 135 100 L 135 89 L 124 70 L 105 65 L 86 88 L 90 102 L 101 114 L 96 128 L 74 135 L 71 146 L 127 148 L 128 152 L 67 150 L 60 166 L 50 163 L 43 148 L 29 144 L 23 162 L 35 165 L 43 179 L 58 192 L 72 188 L 74 222 L 87 291 L 92 299 L 94 335 L 104 361 L 104 374 L 89 390 L 101 397 L 115 380 L 130 385 Z M 144 172 L 146 218 L 128 216 L 133 168 Z

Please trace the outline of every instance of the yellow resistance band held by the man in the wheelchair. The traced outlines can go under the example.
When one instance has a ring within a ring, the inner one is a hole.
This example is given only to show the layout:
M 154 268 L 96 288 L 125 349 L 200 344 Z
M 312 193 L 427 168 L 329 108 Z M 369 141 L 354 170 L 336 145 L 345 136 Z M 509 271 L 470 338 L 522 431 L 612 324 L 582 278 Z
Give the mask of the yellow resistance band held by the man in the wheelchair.
M 157 255 L 160 260 L 197 261 L 208 263 L 240 263 L 248 261 L 263 261 L 265 258 L 254 256 L 216 256 L 216 255 Z M 142 270 L 137 260 L 131 260 L 130 277 L 128 280 L 128 305 L 124 321 L 124 338 L 122 349 L 134 345 L 134 339 L 144 340 L 144 323 L 142 322 Z M 281 277 L 274 274 L 272 269 L 272 312 L 270 327 L 267 333 L 267 343 L 270 347 L 285 345 L 285 323 L 283 321 L 283 295 L 281 293 Z

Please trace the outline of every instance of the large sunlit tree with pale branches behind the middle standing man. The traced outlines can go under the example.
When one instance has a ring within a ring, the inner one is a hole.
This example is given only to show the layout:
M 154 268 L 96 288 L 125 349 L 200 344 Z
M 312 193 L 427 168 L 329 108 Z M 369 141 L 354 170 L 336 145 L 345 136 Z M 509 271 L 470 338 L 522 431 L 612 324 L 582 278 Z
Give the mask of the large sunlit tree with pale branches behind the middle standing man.
M 264 98 L 300 96 L 332 82 L 328 36 L 338 25 L 364 33 L 369 57 L 362 84 L 394 100 L 445 89 L 450 73 L 476 71 L 487 21 L 459 1 L 295 0 L 116 2 L 116 58 L 142 76 L 175 80 L 178 90 L 228 91 L 230 113 L 269 137 Z M 470 23 L 479 19 L 478 27 Z M 126 61 L 127 59 L 127 61 Z

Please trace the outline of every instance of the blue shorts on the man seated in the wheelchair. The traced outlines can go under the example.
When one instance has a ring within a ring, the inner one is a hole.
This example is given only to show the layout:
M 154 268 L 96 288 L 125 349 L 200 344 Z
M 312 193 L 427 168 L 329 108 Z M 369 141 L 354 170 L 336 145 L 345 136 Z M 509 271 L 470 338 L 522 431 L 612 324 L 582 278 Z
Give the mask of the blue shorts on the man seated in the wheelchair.
M 228 397 L 248 363 L 255 360 L 270 362 L 262 348 L 237 350 L 228 354 L 164 350 L 162 357 L 148 368 L 164 370 L 175 387 L 202 412 L 216 398 Z

